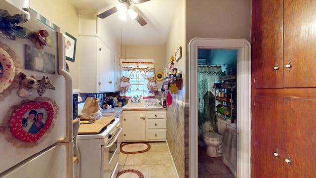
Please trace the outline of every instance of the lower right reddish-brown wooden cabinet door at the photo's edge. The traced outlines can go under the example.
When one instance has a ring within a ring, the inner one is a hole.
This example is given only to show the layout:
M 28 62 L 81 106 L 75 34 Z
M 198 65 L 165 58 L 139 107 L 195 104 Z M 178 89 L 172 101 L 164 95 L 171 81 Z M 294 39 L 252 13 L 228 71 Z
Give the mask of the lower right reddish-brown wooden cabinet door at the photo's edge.
M 284 178 L 315 178 L 316 99 L 284 99 Z M 284 159 L 290 157 L 290 166 Z

